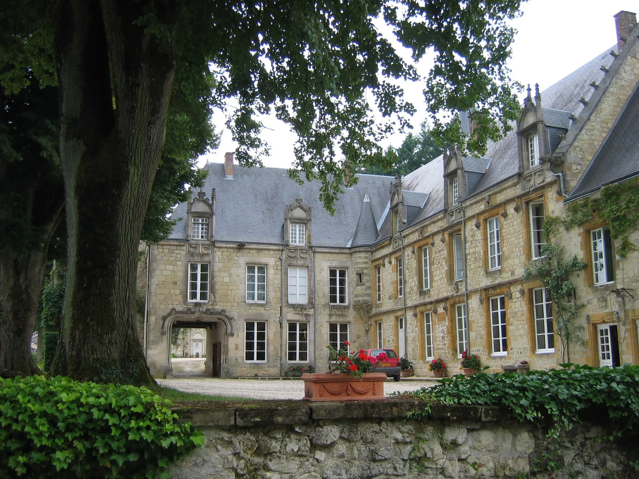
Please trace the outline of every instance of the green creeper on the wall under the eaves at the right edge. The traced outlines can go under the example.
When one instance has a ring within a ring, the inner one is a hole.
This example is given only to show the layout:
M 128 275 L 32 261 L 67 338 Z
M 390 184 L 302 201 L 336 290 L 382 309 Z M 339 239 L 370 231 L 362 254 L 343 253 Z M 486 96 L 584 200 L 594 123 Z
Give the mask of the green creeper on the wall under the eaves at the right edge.
M 599 197 L 587 197 L 570 205 L 566 227 L 580 225 L 599 217 L 610 227 L 610 237 L 617 239 L 616 252 L 625 258 L 636 250 L 629 239 L 639 223 L 639 181 L 625 181 L 601 188 Z

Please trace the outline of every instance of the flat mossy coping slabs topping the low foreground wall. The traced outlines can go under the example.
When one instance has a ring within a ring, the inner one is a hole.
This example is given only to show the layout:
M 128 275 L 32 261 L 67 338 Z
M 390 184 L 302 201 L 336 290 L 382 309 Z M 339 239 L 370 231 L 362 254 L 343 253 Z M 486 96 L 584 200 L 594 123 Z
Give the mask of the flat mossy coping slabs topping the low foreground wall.
M 195 427 L 256 427 L 293 425 L 316 420 L 401 419 L 426 404 L 410 399 L 308 402 L 300 400 L 176 402 L 180 421 Z M 508 420 L 509 410 L 495 406 L 431 404 L 430 418 L 450 421 L 496 422 Z

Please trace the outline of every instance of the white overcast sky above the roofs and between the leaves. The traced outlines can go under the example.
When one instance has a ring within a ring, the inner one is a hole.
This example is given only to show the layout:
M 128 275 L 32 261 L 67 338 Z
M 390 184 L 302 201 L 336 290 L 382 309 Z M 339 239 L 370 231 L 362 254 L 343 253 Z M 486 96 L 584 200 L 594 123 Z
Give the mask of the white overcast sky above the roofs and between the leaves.
M 512 21 L 518 33 L 508 63 L 512 70 L 511 77 L 524 86 L 539 83 L 539 88 L 544 90 L 615 45 L 617 36 L 613 15 L 620 10 L 639 13 L 639 3 L 636 0 L 529 0 L 523 3 L 522 10 L 523 16 Z M 409 59 L 410 53 L 405 51 Z M 420 74 L 425 76 L 430 68 L 429 59 L 424 57 L 417 66 Z M 413 128 L 419 128 L 426 117 L 422 87 L 419 83 L 408 83 L 404 89 L 406 97 L 417 107 L 412 125 Z M 290 167 L 295 159 L 295 134 L 274 116 L 260 119 L 268 128 L 262 135 L 271 147 L 270 156 L 263 158 L 264 165 Z M 222 132 L 222 141 L 216 151 L 201 156 L 200 166 L 207 161 L 224 162 L 224 153 L 236 148 L 231 141 L 231 133 L 224 126 L 221 112 L 213 114 L 213 123 Z M 399 146 L 404 136 L 393 135 L 383 142 L 383 146 Z

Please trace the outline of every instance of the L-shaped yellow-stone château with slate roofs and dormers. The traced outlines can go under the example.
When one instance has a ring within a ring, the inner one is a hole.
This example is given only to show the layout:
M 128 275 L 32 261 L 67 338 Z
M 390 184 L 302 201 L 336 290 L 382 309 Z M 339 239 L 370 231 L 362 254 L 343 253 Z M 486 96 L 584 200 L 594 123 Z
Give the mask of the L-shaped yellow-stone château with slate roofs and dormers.
M 458 148 L 404 178 L 358 174 L 330 216 L 316 182 L 286 170 L 208 163 L 206 185 L 178 205 L 173 234 L 148 245 L 144 349 L 171 375 L 171 328 L 206 331 L 213 376 L 326 368 L 327 346 L 393 347 L 426 375 L 461 353 L 500 370 L 564 360 L 639 362 L 639 255 L 616 253 L 601 220 L 558 229 L 586 268 L 571 276 L 578 338 L 562 349 L 543 284 L 524 270 L 543 225 L 605 185 L 639 174 L 639 28 L 615 15 L 617 45 L 539 91 L 483 158 Z M 472 134 L 472 118 L 466 122 Z M 639 244 L 639 234 L 631 241 Z

